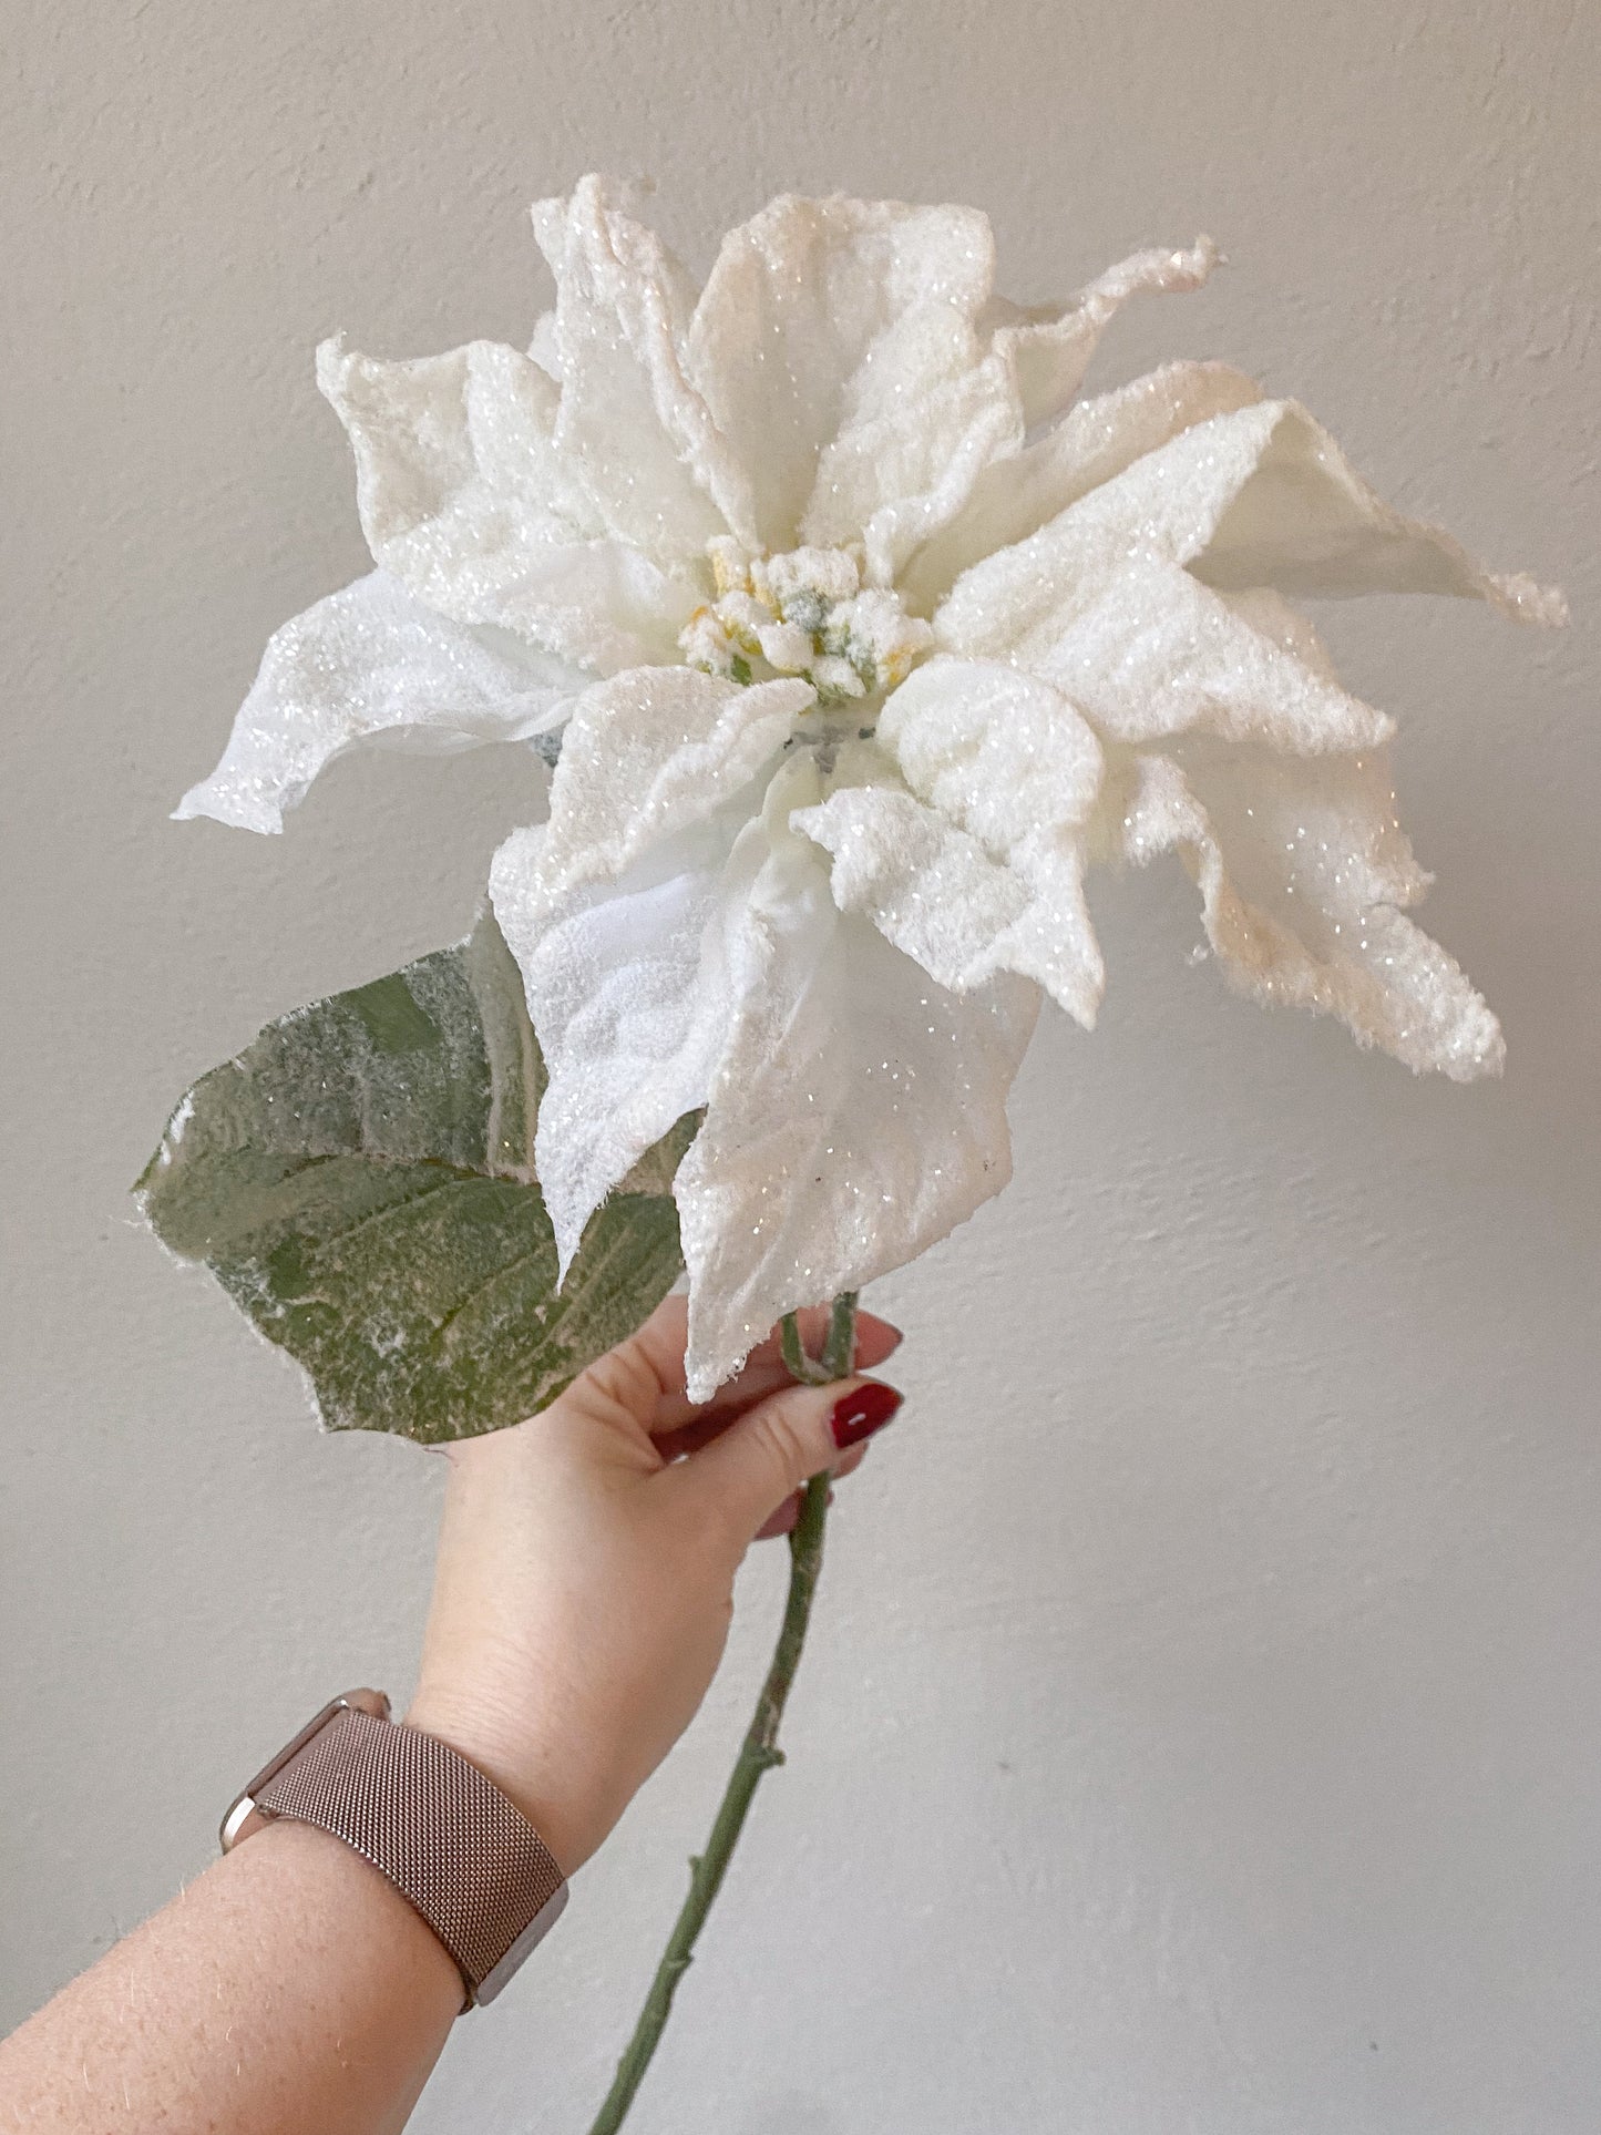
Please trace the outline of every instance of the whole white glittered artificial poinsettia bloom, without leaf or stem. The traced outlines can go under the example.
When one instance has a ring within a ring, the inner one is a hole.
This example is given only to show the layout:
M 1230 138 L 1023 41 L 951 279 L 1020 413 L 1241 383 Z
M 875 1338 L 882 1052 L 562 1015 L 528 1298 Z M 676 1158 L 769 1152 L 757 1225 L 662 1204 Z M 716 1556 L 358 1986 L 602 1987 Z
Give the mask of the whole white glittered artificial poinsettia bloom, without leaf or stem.
M 378 570 L 286 626 L 179 813 L 278 828 L 378 734 L 564 726 L 491 895 L 549 1065 L 564 1262 L 685 1112 L 689 1388 L 1010 1174 L 1042 993 L 1091 1025 L 1095 863 L 1176 852 L 1223 969 L 1456 1078 L 1501 1033 L 1407 916 L 1390 719 L 1289 596 L 1554 621 L 1221 363 L 1095 399 L 1101 329 L 1212 265 L 1005 303 L 965 207 L 779 199 L 700 292 L 628 194 L 534 209 L 529 354 L 320 352 Z M 546 743 L 549 747 L 549 743 Z

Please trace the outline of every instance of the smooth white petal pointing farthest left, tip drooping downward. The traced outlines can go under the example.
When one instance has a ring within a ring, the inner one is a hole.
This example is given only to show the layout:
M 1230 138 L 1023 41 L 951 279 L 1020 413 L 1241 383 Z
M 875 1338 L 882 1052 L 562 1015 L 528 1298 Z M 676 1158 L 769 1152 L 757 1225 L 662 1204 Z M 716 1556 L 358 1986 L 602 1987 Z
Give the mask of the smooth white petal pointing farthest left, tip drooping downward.
M 376 570 L 273 632 L 222 762 L 173 816 L 282 831 L 284 809 L 361 741 L 519 741 L 557 726 L 585 687 L 576 668 L 446 621 Z

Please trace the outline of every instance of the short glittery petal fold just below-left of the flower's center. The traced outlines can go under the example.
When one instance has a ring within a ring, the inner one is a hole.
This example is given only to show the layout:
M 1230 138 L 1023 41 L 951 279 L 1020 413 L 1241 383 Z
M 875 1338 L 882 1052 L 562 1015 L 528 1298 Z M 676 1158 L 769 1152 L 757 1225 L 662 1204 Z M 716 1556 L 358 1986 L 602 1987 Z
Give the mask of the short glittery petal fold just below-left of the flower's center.
M 570 890 L 621 877 L 651 845 L 713 816 L 777 758 L 811 702 L 807 681 L 741 687 L 685 666 L 589 687 L 561 737 L 529 922 L 538 899 L 553 912 Z

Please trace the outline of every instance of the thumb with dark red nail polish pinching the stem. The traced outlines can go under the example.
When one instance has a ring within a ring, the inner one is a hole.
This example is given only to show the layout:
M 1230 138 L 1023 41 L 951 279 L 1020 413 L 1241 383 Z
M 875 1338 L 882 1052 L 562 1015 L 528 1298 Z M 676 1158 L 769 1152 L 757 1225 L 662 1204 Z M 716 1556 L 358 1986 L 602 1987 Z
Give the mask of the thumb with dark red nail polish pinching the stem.
M 882 1379 L 786 1386 L 683 1460 L 681 1486 L 749 1539 L 803 1482 L 882 1430 L 903 1398 Z

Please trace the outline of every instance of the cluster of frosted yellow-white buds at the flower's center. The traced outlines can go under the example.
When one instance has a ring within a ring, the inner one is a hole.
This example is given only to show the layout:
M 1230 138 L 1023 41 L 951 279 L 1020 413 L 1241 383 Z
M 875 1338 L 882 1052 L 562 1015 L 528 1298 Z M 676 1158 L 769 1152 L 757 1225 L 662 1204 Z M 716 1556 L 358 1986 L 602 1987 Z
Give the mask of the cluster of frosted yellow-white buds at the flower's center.
M 854 549 L 747 555 L 736 540 L 707 542 L 717 598 L 685 623 L 689 666 L 730 681 L 803 675 L 822 705 L 884 696 L 933 645 L 901 596 L 862 585 Z

